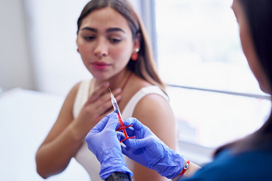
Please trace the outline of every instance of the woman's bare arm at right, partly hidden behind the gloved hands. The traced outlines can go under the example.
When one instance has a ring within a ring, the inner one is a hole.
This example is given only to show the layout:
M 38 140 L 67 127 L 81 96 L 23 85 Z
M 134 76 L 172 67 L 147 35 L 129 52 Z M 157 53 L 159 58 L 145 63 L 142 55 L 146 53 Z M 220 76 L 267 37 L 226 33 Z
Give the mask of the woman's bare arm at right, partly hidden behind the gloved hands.
M 167 146 L 176 148 L 175 117 L 168 102 L 159 95 L 145 96 L 135 107 L 133 117 L 149 127 Z M 168 180 L 154 170 L 134 162 L 134 180 Z

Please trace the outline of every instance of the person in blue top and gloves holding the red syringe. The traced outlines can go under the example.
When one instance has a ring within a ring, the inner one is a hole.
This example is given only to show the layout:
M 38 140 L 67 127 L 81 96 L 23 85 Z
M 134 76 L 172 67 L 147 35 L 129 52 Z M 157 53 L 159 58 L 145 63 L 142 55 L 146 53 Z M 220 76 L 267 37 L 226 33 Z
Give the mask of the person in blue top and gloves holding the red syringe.
M 240 26 L 241 44 L 248 64 L 262 91 L 271 95 L 272 1 L 234 0 L 232 8 Z M 123 164 L 123 153 L 172 180 L 272 180 L 271 114 L 256 132 L 218 148 L 214 161 L 201 169 L 166 146 L 148 127 L 134 118 L 126 119 L 124 124 L 133 124 L 133 129 L 127 132 L 136 139 L 125 141 L 126 147 L 121 147 L 118 139 L 123 139 L 123 134 L 117 132 L 116 138 L 117 123 L 117 115 L 112 113 L 102 119 L 86 137 L 89 149 L 96 153 L 101 162 L 100 175 L 105 179 L 116 174 L 132 175 Z M 106 136 L 107 140 L 103 139 Z M 98 137 L 100 144 L 94 140 Z M 112 147 L 113 151 L 108 152 L 105 149 L 107 147 Z M 117 169 L 108 162 L 105 164 L 105 160 L 109 161 L 107 158 L 111 158 Z

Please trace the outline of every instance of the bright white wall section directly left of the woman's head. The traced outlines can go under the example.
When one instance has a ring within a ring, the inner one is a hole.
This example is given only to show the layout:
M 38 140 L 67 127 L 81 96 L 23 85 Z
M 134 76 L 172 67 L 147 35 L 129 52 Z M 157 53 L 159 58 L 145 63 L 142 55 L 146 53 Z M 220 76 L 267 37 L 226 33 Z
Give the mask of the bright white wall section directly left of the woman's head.
M 88 0 L 25 0 L 38 91 L 66 94 L 91 74 L 77 52 L 77 19 Z

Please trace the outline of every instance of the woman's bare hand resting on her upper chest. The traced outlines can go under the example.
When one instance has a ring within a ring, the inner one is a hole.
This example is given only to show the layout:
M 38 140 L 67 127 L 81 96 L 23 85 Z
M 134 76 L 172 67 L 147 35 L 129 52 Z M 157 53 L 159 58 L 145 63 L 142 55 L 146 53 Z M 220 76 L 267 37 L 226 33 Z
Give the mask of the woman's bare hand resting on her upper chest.
M 79 116 L 75 119 L 73 126 L 76 135 L 82 139 L 104 116 L 113 111 L 110 101 L 110 93 L 103 94 L 107 91 L 109 82 L 104 82 L 85 103 Z M 115 89 L 112 94 L 116 101 L 121 100 L 121 89 Z

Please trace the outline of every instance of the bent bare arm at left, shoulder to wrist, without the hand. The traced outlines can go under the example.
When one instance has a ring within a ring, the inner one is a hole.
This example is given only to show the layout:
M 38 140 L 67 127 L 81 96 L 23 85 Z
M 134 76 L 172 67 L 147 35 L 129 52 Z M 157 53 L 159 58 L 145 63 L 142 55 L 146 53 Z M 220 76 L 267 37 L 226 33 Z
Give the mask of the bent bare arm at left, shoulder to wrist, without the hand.
M 36 153 L 37 172 L 47 178 L 63 171 L 81 145 L 75 137 L 72 109 L 79 84 L 67 95 L 58 118 Z

